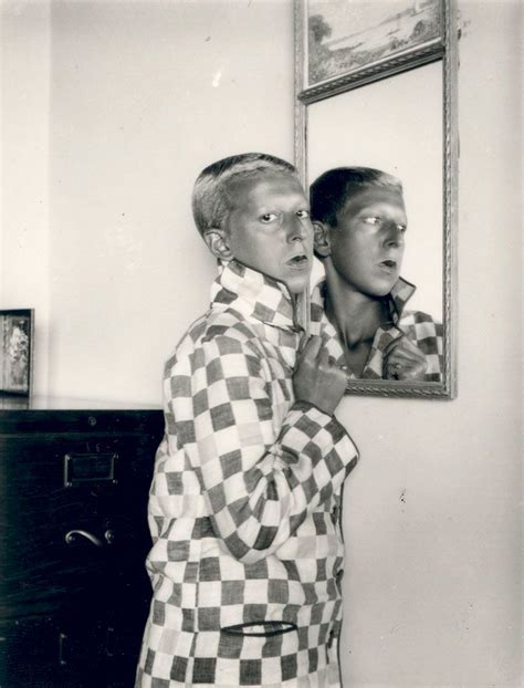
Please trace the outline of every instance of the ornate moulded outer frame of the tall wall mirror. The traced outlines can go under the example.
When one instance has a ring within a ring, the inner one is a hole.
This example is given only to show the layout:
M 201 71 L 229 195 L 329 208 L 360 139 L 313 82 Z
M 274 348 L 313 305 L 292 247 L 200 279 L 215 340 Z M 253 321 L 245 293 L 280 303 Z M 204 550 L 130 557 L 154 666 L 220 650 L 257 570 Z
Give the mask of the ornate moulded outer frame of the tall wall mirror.
M 441 0 L 442 35 L 409 54 L 400 54 L 368 67 L 305 87 L 307 0 L 294 0 L 295 42 L 295 166 L 307 189 L 307 106 L 381 79 L 394 77 L 442 61 L 442 325 L 443 371 L 441 383 L 348 381 L 346 394 L 386 397 L 453 399 L 457 396 L 457 228 L 458 228 L 458 8 L 457 0 Z M 308 295 L 307 295 L 308 298 Z

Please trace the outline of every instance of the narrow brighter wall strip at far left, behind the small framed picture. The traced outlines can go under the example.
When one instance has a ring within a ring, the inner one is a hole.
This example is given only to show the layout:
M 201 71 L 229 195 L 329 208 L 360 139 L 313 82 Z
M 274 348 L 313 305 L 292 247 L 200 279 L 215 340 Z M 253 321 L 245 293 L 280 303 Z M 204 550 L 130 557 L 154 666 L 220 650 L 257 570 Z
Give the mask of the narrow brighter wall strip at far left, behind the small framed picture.
M 36 389 L 49 372 L 50 8 L 0 4 L 0 309 L 36 312 Z

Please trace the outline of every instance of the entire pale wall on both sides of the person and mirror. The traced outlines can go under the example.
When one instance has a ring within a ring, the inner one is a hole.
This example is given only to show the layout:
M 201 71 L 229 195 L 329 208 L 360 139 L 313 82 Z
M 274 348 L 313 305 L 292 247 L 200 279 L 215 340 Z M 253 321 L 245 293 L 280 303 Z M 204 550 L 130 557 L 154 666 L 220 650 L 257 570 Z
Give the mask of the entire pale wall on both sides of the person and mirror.
M 291 2 L 7 7 L 0 306 L 49 311 L 41 390 L 158 402 L 214 272 L 196 174 L 241 149 L 292 156 Z M 459 397 L 339 409 L 363 457 L 345 496 L 346 688 L 522 682 L 521 10 L 461 13 Z

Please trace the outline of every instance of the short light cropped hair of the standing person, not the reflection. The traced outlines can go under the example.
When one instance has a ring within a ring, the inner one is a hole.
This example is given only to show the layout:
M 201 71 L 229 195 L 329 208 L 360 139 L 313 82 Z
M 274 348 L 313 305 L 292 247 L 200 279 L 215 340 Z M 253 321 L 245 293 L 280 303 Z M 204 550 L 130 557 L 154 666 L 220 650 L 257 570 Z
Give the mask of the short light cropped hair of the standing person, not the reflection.
M 198 231 L 222 228 L 233 209 L 229 187 L 239 178 L 277 171 L 298 177 L 296 168 L 281 158 L 265 153 L 232 155 L 209 165 L 197 178 L 192 190 L 192 216 Z

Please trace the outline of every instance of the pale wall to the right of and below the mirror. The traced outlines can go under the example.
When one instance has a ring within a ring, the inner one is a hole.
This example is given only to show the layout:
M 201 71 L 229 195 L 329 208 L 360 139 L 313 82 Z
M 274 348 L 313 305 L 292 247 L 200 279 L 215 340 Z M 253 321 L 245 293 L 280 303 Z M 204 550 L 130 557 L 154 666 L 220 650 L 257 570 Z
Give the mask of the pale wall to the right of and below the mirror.
M 350 688 L 523 680 L 521 9 L 460 9 L 459 397 L 339 413 Z

